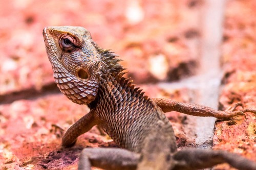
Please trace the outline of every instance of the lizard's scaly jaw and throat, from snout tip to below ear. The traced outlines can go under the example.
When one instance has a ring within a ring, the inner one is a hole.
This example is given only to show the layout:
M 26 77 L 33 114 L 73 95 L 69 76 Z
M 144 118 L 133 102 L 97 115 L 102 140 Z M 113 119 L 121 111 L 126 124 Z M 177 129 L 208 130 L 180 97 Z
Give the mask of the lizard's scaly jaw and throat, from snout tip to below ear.
M 87 72 L 83 72 L 83 69 L 78 69 L 80 71 L 79 74 L 82 76 L 74 75 L 61 63 L 60 50 L 56 43 L 58 40 L 51 35 L 55 32 L 54 28 L 55 27 L 44 28 L 42 33 L 44 36 L 47 55 L 52 64 L 54 80 L 60 91 L 72 102 L 77 104 L 89 104 L 96 98 L 100 77 L 88 77 Z

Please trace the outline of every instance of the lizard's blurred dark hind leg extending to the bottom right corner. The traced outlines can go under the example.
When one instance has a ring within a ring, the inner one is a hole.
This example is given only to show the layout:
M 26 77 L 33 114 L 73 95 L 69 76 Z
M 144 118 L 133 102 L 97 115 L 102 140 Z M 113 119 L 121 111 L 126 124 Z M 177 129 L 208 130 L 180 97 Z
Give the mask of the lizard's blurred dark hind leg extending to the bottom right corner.
M 241 170 L 256 169 L 255 162 L 226 151 L 184 149 L 175 153 L 173 159 L 176 162 L 173 170 L 203 169 L 220 163 L 228 163 Z

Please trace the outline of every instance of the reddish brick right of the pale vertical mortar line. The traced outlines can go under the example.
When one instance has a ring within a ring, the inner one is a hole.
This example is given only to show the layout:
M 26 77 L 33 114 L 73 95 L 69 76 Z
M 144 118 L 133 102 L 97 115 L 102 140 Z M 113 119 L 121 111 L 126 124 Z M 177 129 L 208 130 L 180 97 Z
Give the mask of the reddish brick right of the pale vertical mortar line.
M 225 10 L 222 44 L 224 85 L 220 108 L 227 109 L 237 102 L 245 108 L 255 108 L 255 1 L 228 1 Z M 245 17 L 246 16 L 246 17 Z M 216 122 L 214 149 L 227 150 L 256 161 L 256 120 L 253 113 L 246 113 L 231 120 Z M 216 169 L 232 169 L 219 165 Z

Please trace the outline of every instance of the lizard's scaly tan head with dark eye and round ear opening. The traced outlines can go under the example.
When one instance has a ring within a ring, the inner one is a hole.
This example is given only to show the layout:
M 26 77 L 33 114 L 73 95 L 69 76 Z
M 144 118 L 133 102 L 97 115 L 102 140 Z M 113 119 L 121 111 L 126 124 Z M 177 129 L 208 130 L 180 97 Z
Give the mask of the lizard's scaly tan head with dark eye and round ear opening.
M 46 27 L 46 51 L 60 91 L 77 104 L 96 98 L 102 60 L 90 33 L 82 27 Z

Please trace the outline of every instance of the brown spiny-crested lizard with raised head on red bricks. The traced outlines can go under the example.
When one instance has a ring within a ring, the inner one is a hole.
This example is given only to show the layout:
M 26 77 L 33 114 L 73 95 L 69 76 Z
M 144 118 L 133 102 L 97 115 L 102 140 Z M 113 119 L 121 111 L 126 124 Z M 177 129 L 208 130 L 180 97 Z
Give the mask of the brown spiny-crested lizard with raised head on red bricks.
M 87 105 L 89 113 L 62 137 L 63 147 L 72 147 L 79 135 L 98 125 L 120 148 L 85 148 L 78 169 L 202 169 L 229 163 L 241 170 L 255 170 L 256 163 L 226 151 L 177 150 L 176 137 L 165 112 L 229 118 L 256 114 L 256 110 L 215 110 L 198 104 L 148 98 L 125 78 L 121 59 L 100 48 L 83 27 L 58 26 L 43 30 L 46 52 L 54 80 L 68 99 Z

